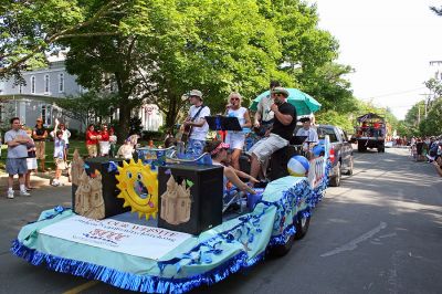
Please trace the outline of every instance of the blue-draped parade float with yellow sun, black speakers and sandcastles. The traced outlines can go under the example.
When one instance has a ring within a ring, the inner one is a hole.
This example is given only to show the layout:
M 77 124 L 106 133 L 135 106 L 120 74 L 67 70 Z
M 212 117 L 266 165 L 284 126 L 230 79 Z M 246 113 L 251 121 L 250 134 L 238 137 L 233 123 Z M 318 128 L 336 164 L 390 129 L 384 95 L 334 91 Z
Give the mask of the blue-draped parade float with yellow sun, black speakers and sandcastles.
M 76 156 L 72 208 L 43 211 L 11 251 L 33 265 L 124 290 L 188 292 L 269 253 L 287 253 L 307 232 L 330 168 L 325 157 L 293 157 L 291 176 L 225 210 L 221 167 L 207 156 L 165 164 L 165 154 L 145 148 L 137 160 L 85 162 Z

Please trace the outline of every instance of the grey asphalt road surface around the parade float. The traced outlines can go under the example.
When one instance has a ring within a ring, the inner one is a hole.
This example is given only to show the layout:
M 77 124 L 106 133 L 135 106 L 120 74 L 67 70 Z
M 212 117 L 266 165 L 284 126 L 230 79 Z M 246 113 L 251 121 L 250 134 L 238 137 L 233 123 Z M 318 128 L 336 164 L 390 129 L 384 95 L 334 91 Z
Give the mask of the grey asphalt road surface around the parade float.
M 442 178 L 406 149 L 355 153 L 355 174 L 327 189 L 307 235 L 282 259 L 192 293 L 441 293 Z M 129 293 L 14 258 L 10 241 L 70 187 L 0 198 L 0 293 Z

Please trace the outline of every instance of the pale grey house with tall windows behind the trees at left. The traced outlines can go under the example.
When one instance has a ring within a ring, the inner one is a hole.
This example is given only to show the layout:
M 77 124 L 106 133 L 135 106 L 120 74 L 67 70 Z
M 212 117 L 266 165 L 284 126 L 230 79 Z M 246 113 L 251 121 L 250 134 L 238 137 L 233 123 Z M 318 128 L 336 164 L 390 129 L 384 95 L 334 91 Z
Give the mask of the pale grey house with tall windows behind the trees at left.
M 0 81 L 0 122 L 3 127 L 9 127 L 9 118 L 13 116 L 31 127 L 38 117 L 42 117 L 45 126 L 52 126 L 59 118 L 67 128 L 85 132 L 86 126 L 82 122 L 66 116 L 56 105 L 57 99 L 87 91 L 77 84 L 76 76 L 67 73 L 63 60 L 52 61 L 45 69 L 23 72 L 22 76 L 24 85 L 17 84 L 13 77 Z M 114 118 L 117 118 L 117 113 L 118 109 Z M 162 125 L 162 114 L 157 105 L 143 105 L 134 109 L 134 115 L 141 118 L 145 130 L 158 130 Z

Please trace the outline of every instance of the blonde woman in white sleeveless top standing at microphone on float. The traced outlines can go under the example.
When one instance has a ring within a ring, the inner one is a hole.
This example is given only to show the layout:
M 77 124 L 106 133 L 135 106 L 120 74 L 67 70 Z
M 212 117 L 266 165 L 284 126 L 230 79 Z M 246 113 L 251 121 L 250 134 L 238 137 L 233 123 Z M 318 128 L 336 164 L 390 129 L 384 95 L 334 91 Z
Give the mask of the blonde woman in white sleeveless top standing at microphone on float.
M 228 98 L 225 114 L 229 117 L 236 117 L 241 127 L 251 127 L 252 122 L 248 108 L 241 106 L 242 97 L 239 93 L 232 92 Z M 232 151 L 232 166 L 240 169 L 240 156 L 244 147 L 245 134 L 243 132 L 229 130 L 225 143 L 230 145 Z

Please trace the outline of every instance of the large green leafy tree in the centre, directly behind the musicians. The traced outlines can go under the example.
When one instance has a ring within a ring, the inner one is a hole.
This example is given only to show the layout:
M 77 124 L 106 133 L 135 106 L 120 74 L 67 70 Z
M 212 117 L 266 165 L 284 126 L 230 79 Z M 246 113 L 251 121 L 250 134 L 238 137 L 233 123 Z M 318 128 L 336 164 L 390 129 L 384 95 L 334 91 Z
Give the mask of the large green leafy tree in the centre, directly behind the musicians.
M 170 127 L 187 91 L 200 88 L 217 112 L 229 92 L 250 97 L 277 69 L 277 39 L 252 0 L 134 1 L 110 22 L 122 34 L 65 41 L 66 69 L 95 91 L 115 83 L 123 135 L 131 109 L 144 101 L 158 104 Z

